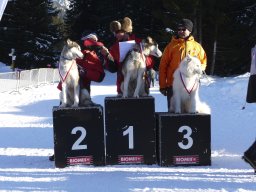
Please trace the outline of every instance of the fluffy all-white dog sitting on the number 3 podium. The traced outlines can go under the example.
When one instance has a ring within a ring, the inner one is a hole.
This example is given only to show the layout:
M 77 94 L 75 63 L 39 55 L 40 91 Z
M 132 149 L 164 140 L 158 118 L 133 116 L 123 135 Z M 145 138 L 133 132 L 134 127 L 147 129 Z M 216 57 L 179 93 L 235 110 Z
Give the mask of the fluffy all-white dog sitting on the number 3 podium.
M 210 107 L 199 98 L 199 79 L 202 72 L 198 58 L 188 55 L 181 61 L 173 75 L 170 112 L 210 113 Z

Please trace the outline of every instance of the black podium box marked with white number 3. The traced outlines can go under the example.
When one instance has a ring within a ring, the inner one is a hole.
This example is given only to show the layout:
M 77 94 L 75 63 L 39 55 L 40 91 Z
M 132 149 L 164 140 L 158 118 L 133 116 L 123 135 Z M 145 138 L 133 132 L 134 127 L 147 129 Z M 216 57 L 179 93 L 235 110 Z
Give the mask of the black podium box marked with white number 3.
M 160 166 L 211 165 L 209 114 L 156 113 Z

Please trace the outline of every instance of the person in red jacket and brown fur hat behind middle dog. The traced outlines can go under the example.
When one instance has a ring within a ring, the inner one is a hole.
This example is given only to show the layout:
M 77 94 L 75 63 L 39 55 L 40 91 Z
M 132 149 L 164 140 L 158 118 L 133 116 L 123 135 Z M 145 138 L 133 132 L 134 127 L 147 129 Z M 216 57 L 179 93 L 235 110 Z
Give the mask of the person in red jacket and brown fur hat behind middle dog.
M 117 86 L 117 96 L 122 96 L 121 83 L 124 81 L 122 74 L 122 62 L 120 62 L 120 51 L 119 51 L 119 42 L 135 40 L 136 43 L 140 43 L 141 39 L 137 38 L 132 34 L 132 21 L 129 17 L 125 17 L 123 20 L 112 21 L 110 23 L 110 31 L 115 36 L 115 42 L 109 48 L 110 58 L 112 57 L 111 62 L 107 62 L 105 68 L 111 73 L 117 73 L 116 86 Z M 153 68 L 154 66 L 153 56 L 146 57 L 146 66 L 147 69 Z M 149 89 L 149 86 L 147 86 Z M 148 92 L 148 90 L 146 90 Z

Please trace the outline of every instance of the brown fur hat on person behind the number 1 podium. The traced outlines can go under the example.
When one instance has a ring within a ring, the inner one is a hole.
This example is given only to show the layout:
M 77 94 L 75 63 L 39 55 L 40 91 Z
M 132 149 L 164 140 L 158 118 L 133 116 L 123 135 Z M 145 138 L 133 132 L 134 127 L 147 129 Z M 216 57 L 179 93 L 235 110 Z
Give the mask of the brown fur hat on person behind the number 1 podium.
M 125 17 L 120 22 L 112 21 L 109 25 L 109 28 L 112 33 L 116 33 L 118 31 L 131 33 L 132 32 L 132 20 L 129 17 Z

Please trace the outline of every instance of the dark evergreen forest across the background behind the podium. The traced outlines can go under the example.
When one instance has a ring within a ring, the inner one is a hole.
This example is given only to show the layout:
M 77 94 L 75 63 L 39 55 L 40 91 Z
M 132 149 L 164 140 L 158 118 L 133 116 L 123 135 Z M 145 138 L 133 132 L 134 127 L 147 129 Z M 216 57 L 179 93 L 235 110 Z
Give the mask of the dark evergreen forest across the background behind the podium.
M 153 37 L 162 51 L 177 22 L 189 18 L 207 53 L 207 74 L 230 76 L 250 69 L 255 0 L 9 0 L 0 22 L 0 61 L 11 65 L 14 48 L 17 68 L 55 67 L 67 38 L 82 45 L 83 34 L 96 32 L 109 47 L 114 40 L 109 23 L 125 16 L 138 37 Z

